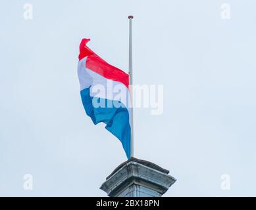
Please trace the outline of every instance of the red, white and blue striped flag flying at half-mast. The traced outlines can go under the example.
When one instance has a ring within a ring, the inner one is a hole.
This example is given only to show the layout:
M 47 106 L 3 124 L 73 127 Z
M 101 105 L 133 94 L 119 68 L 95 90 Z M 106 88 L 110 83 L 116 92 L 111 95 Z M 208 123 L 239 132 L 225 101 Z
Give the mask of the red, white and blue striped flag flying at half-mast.
M 78 62 L 80 95 L 86 114 L 96 125 L 105 123 L 130 158 L 129 75 L 93 53 L 82 39 Z

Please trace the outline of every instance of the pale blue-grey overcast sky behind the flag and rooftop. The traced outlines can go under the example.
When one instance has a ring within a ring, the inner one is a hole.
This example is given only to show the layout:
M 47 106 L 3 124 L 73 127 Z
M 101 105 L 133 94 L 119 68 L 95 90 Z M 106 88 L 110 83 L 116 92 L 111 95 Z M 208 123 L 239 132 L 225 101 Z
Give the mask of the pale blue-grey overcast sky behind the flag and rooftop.
M 24 19 L 24 4 L 33 20 Z M 230 19 L 221 5 L 229 3 Z M 80 100 L 80 40 L 128 72 L 164 85 L 164 112 L 134 111 L 135 156 L 170 170 L 165 196 L 256 196 L 256 2 L 1 1 L 0 195 L 106 196 L 122 145 Z M 33 190 L 24 190 L 24 175 Z M 222 190 L 221 176 L 230 176 Z

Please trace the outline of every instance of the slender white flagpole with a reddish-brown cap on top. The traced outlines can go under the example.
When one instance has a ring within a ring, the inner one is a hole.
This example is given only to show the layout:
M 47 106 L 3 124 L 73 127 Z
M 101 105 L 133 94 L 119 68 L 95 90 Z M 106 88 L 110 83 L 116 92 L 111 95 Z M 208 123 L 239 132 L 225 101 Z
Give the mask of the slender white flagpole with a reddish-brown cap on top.
M 129 19 L 129 85 L 132 83 L 132 19 L 134 16 L 128 16 Z M 132 89 L 130 88 L 131 95 L 131 140 L 130 140 L 130 155 L 134 157 L 134 108 L 133 108 L 133 95 Z

